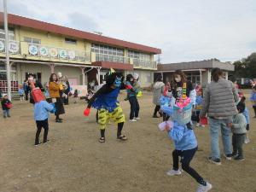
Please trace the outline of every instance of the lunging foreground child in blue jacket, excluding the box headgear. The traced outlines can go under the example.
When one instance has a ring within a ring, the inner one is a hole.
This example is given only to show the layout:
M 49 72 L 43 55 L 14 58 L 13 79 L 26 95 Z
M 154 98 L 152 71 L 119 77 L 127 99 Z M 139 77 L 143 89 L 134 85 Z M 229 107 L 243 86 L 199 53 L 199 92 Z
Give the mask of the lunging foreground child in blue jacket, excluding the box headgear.
M 173 127 L 166 124 L 166 131 L 172 139 L 175 149 L 172 151 L 173 168 L 167 175 L 180 175 L 182 172 L 178 169 L 178 157 L 181 157 L 182 169 L 188 172 L 191 177 L 194 177 L 199 183 L 197 192 L 206 192 L 212 189 L 212 184 L 208 183 L 201 177 L 192 167 L 189 166 L 191 160 L 197 151 L 197 141 L 194 131 L 189 129 L 187 125 L 179 125 L 176 121 L 173 122 Z

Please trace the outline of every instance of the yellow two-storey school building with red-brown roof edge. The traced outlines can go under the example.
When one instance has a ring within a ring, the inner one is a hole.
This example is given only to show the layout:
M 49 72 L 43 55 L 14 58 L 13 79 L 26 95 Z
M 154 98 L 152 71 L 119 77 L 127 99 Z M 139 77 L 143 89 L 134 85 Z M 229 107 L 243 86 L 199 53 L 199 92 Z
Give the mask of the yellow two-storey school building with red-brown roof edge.
M 3 15 L 0 19 L 3 20 Z M 42 84 L 49 81 L 50 73 L 58 72 L 66 75 L 73 85 L 93 80 L 98 84 L 111 67 L 124 75 L 138 73 L 143 87 L 154 82 L 157 71 L 154 55 L 160 54 L 161 49 L 18 15 L 9 14 L 8 21 L 13 91 L 15 84 L 22 84 L 30 74 Z M 3 91 L 7 89 L 4 35 L 0 26 L 0 88 Z

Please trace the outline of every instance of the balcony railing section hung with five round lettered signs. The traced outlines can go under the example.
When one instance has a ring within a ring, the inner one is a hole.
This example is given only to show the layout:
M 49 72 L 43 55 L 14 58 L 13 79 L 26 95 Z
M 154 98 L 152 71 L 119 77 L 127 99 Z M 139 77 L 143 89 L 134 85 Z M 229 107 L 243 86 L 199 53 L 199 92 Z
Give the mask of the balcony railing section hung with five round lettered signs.
M 49 57 L 69 61 L 90 61 L 90 52 L 61 49 L 41 44 L 28 44 L 28 54 L 32 56 Z

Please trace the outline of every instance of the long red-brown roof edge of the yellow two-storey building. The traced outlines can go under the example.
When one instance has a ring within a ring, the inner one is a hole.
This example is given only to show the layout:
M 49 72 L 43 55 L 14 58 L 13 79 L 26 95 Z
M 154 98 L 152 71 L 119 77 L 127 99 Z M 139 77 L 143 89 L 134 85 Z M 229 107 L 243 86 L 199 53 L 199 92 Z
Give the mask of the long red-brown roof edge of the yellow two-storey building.
M 0 14 L 0 20 L 3 20 L 3 12 L 2 14 Z M 134 49 L 137 51 L 147 52 L 152 54 L 161 53 L 161 49 L 145 46 L 143 44 L 135 44 L 135 43 L 119 40 L 116 38 L 108 38 L 108 37 L 97 35 L 91 32 L 83 32 L 80 30 L 66 27 L 66 26 L 58 26 L 55 24 L 50 24 L 40 20 L 32 20 L 32 19 L 18 16 L 18 15 L 9 14 L 8 21 L 9 21 L 9 24 L 12 24 L 15 26 L 26 26 L 26 27 L 41 30 L 44 32 L 53 32 L 61 35 L 71 36 L 74 38 L 83 38 L 98 44 L 108 44 L 113 46 L 119 46 L 127 49 Z

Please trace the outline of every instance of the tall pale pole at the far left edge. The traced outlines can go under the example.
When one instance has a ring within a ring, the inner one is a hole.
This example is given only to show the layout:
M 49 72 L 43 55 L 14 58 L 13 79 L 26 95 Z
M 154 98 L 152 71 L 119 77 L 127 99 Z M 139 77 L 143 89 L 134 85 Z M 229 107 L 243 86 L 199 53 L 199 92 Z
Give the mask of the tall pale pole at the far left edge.
M 5 31 L 5 54 L 6 54 L 6 77 L 7 77 L 7 95 L 11 100 L 11 82 L 10 82 L 10 66 L 9 66 L 9 31 L 7 18 L 7 0 L 3 0 L 3 17 L 4 17 L 4 31 Z

